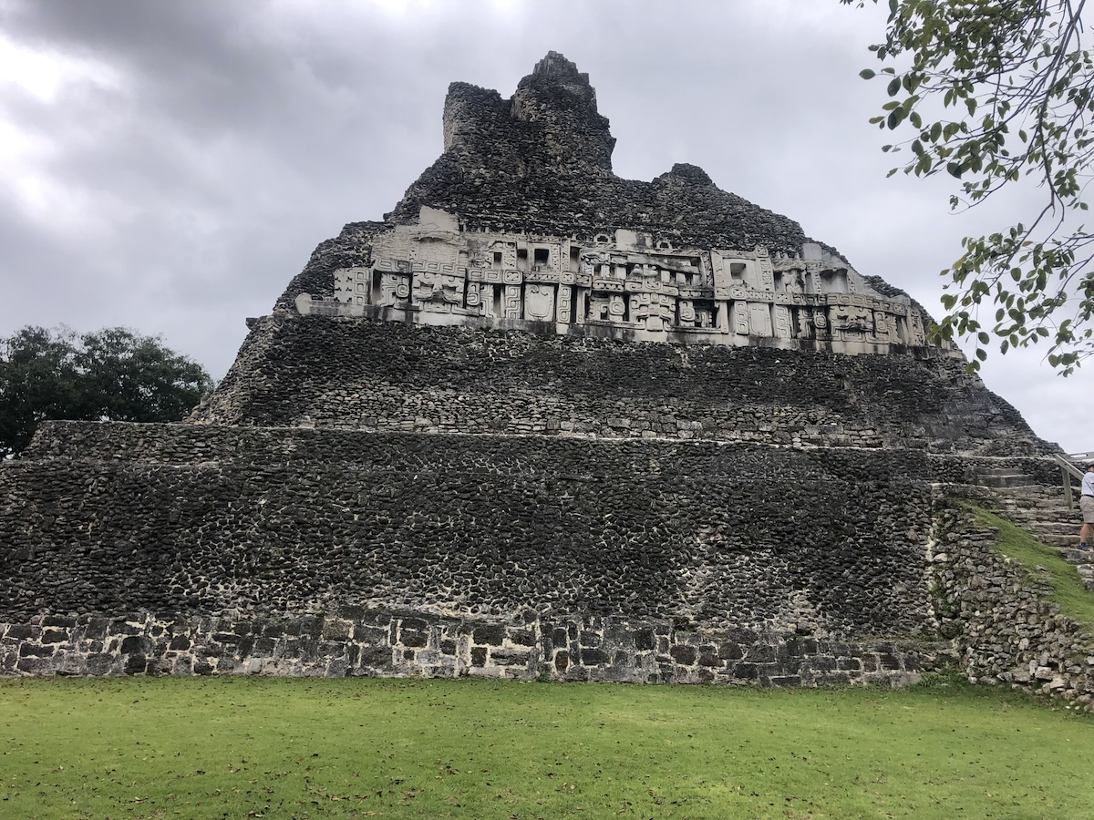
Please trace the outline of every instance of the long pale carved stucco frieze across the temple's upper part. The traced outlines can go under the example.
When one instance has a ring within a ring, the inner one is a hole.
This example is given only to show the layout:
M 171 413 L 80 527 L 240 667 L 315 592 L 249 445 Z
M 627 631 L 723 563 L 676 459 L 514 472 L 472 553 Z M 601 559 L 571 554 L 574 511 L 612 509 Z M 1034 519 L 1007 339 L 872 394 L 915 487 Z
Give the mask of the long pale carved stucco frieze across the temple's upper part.
M 652 237 L 619 230 L 590 247 L 577 237 L 461 233 L 455 218 L 430 211 L 427 219 L 427 210 L 422 224 L 374 237 L 372 263 L 335 271 L 333 295 L 299 300 L 301 313 L 361 315 L 374 306 L 416 321 L 554 321 L 560 332 L 606 325 L 654 340 L 695 333 L 752 344 L 766 337 L 878 351 L 926 344 L 907 297 L 876 293 L 815 243 L 772 257 L 763 246 L 654 248 Z

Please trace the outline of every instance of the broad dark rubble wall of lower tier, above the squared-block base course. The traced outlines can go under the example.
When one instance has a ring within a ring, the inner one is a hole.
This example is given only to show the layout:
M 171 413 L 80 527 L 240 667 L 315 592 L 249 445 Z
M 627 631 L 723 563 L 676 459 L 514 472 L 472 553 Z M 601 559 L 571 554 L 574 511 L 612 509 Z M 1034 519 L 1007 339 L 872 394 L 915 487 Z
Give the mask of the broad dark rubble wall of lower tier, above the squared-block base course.
M 0 469 L 8 621 L 361 606 L 930 630 L 938 469 L 912 450 L 69 422 L 30 455 Z

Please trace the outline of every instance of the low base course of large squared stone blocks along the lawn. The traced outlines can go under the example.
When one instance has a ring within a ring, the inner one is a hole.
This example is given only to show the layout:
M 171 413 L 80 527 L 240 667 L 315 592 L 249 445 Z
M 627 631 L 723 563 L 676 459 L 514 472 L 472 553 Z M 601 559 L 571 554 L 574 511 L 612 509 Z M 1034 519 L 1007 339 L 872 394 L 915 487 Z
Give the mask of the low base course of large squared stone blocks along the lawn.
M 128 614 L 0 623 L 0 675 L 497 677 L 630 683 L 899 686 L 941 645 L 847 642 L 621 618 L 516 622 L 344 611 L 286 620 Z

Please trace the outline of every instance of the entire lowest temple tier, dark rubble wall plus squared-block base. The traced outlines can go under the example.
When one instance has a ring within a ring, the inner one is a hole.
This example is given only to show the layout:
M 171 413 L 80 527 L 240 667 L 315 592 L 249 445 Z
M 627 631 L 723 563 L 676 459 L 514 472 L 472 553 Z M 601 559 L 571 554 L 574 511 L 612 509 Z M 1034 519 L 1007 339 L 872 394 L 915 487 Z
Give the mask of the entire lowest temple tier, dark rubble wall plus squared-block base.
M 959 658 L 1089 704 L 1090 634 L 935 508 L 1001 465 L 1052 476 L 920 450 L 54 422 L 0 466 L 0 673 L 897 684 Z

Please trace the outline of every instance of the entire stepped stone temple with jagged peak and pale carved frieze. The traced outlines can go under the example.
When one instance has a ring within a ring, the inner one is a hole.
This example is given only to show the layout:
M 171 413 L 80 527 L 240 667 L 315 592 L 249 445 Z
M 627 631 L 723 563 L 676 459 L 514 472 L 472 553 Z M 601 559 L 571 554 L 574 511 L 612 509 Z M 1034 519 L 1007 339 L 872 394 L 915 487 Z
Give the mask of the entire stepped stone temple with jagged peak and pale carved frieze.
M 698 167 L 615 176 L 561 55 L 453 83 L 443 131 L 188 422 L 47 423 L 0 466 L 0 673 L 962 663 L 1089 701 L 1074 624 L 956 504 L 1059 506 L 1058 448 L 921 306 Z

